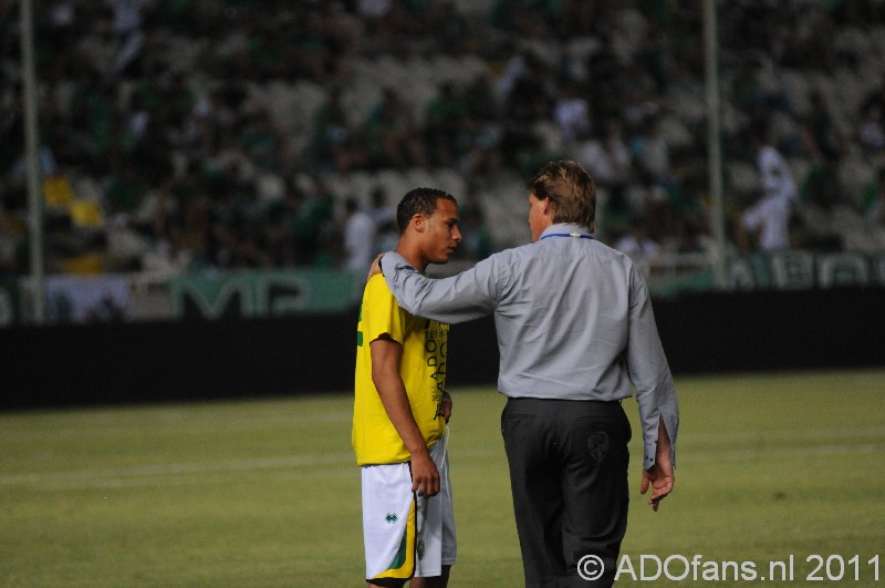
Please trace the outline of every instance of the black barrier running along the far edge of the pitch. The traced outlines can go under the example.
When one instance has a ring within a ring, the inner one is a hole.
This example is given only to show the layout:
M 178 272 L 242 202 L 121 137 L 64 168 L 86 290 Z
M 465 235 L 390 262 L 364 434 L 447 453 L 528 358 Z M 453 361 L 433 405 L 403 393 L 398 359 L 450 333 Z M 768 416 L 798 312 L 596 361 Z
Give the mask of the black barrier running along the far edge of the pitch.
M 885 289 L 654 302 L 674 374 L 885 367 Z M 0 329 L 0 409 L 347 391 L 356 311 L 285 319 Z M 455 326 L 450 386 L 493 384 L 491 318 Z

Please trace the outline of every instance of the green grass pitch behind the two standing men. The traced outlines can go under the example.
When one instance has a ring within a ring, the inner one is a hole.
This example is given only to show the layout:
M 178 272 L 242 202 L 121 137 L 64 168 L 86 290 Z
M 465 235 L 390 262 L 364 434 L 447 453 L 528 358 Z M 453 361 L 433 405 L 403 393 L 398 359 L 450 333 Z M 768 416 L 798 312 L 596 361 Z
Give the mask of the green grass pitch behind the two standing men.
M 793 581 L 769 584 L 885 581 L 885 371 L 685 376 L 677 388 L 676 489 L 658 513 L 638 493 L 625 402 L 622 555 L 637 579 L 618 586 L 761 584 L 643 581 L 643 556 L 684 558 L 671 576 L 695 556 L 752 561 L 759 576 L 792 556 Z M 452 396 L 450 585 L 520 586 L 503 399 L 489 388 Z M 351 405 L 341 393 L 0 414 L 0 585 L 363 586 Z M 815 567 L 824 581 L 806 581 Z

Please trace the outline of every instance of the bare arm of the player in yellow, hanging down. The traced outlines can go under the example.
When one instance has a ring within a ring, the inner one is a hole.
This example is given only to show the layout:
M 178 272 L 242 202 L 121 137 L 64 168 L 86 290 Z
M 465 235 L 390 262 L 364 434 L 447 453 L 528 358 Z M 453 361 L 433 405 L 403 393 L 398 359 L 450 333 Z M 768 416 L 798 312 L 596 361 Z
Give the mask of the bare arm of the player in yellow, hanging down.
M 439 471 L 430 458 L 412 405 L 406 386 L 399 375 L 399 360 L 403 347 L 382 334 L 369 343 L 372 350 L 372 381 L 396 432 L 412 455 L 412 491 L 425 496 L 439 493 Z

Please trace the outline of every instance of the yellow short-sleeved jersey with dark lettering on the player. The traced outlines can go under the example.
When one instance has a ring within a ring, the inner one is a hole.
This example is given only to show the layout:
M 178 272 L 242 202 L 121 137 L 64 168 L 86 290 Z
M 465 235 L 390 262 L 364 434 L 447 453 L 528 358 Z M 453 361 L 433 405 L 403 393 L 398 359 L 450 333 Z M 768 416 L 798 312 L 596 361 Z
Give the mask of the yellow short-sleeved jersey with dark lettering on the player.
M 446 429 L 439 403 L 446 386 L 449 326 L 409 314 L 387 288 L 381 274 L 369 278 L 363 291 L 356 331 L 356 373 L 352 443 L 358 465 L 409 461 L 399 433 L 384 410 L 372 381 L 369 343 L 387 333 L 403 345 L 399 375 L 406 386 L 412 414 L 424 441 L 431 445 Z

